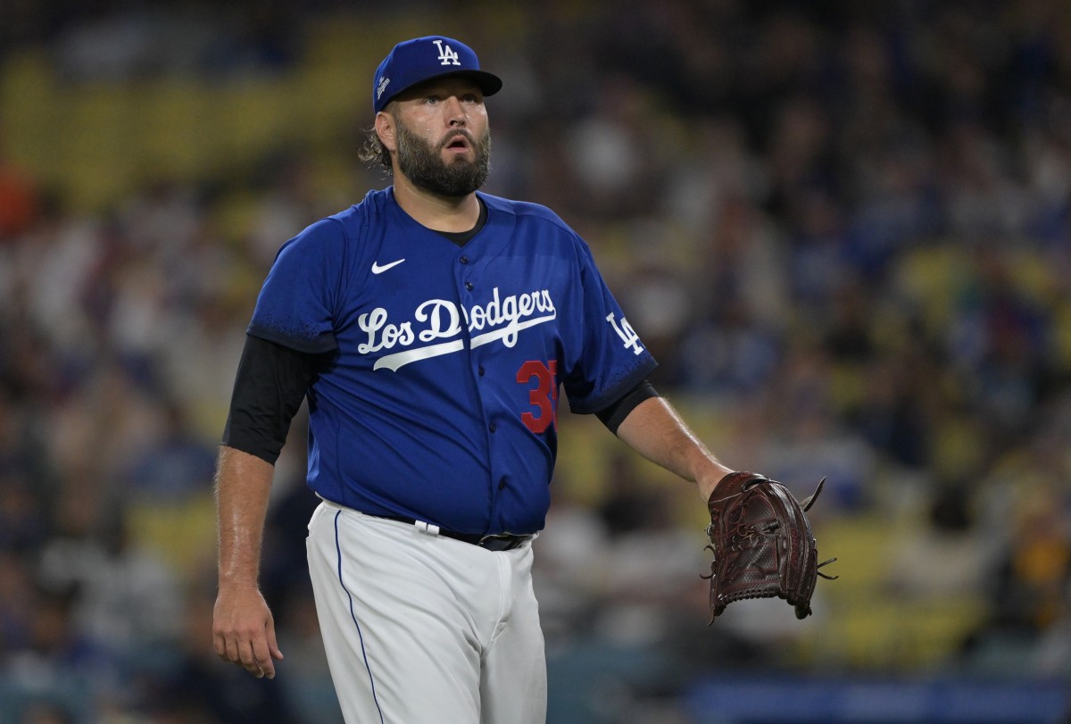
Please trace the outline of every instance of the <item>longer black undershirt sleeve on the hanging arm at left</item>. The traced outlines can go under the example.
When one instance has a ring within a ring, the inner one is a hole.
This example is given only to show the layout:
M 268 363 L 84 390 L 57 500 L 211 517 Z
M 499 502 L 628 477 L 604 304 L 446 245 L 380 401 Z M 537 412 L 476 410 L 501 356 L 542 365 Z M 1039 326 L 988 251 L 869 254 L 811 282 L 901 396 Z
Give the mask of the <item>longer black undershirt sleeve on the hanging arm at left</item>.
M 247 334 L 223 443 L 275 464 L 316 374 L 317 356 Z

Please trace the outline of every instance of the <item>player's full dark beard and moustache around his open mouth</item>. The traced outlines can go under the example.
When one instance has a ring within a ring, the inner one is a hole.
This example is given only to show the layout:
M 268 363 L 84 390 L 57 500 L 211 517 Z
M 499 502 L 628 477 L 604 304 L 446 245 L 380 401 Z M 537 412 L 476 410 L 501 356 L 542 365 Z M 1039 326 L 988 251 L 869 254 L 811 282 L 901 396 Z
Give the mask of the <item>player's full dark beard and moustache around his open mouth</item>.
M 453 142 L 458 133 L 468 139 L 476 160 L 457 157 L 447 163 L 442 161 L 442 149 Z M 491 170 L 491 130 L 485 130 L 479 139 L 473 138 L 468 131 L 459 131 L 432 147 L 398 123 L 397 153 L 398 170 L 414 186 L 437 196 L 468 196 L 487 180 L 487 172 Z

